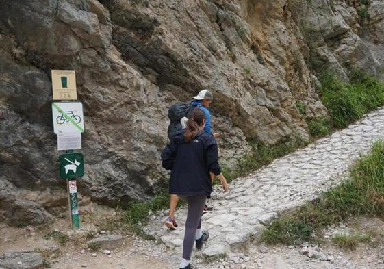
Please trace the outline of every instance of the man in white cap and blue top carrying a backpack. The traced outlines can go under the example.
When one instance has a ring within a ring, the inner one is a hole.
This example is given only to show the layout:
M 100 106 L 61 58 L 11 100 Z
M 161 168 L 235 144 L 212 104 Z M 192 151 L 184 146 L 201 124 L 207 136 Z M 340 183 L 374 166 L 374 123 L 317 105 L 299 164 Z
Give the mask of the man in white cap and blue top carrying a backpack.
M 211 114 L 208 110 L 209 105 L 214 99 L 212 92 L 209 92 L 209 90 L 201 90 L 199 94 L 193 97 L 193 99 L 194 100 L 192 100 L 190 104 L 176 103 L 175 105 L 172 105 L 168 110 L 168 117 L 170 118 L 170 125 L 168 127 L 168 138 L 171 142 L 177 131 L 183 129 L 181 119 L 183 119 L 184 117 L 188 118 L 190 116 L 192 108 L 194 107 L 199 107 L 199 109 L 205 114 L 205 126 L 203 131 L 205 133 L 212 134 L 214 138 L 218 138 L 219 133 L 212 133 Z M 211 178 L 213 181 L 213 174 L 211 174 Z M 178 226 L 175 220 L 175 209 L 178 201 L 179 196 L 177 196 L 176 194 L 170 194 L 169 216 L 164 224 L 171 230 L 175 230 Z M 212 211 L 212 207 L 208 207 L 207 205 L 205 205 L 204 212 L 207 211 Z

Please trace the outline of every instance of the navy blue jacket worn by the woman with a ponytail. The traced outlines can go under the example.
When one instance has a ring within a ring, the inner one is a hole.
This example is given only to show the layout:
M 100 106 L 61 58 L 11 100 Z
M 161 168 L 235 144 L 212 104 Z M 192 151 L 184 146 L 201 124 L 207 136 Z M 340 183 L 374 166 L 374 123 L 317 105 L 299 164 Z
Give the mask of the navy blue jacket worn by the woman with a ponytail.
M 212 192 L 209 172 L 215 175 L 221 172 L 214 136 L 201 132 L 192 142 L 185 142 L 184 130 L 179 131 L 162 153 L 162 166 L 171 170 L 170 194 L 209 196 Z

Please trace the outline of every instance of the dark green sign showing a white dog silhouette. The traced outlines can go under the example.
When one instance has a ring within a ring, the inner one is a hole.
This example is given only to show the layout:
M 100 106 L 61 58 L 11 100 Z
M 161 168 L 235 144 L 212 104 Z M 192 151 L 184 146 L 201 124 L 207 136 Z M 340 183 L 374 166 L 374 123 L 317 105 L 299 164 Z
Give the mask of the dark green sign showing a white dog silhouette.
M 84 176 L 84 157 L 81 153 L 67 153 L 59 156 L 60 177 L 72 179 Z

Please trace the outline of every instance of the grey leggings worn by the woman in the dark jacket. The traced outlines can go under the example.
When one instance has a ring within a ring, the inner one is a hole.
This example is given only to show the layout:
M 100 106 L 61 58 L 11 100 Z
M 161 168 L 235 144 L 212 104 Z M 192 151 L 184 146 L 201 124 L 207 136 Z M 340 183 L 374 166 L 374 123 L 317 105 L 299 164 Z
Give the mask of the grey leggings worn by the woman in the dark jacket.
M 201 229 L 201 214 L 203 214 L 205 199 L 207 195 L 187 196 L 188 215 L 185 222 L 185 235 L 183 242 L 183 258 L 191 259 L 192 248 L 196 236 L 196 229 Z

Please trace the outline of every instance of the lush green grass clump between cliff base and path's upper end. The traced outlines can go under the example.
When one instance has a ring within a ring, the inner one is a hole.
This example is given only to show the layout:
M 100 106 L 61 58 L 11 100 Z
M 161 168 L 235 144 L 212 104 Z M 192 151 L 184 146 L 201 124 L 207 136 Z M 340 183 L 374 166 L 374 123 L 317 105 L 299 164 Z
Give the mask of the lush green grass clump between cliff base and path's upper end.
M 384 81 L 363 71 L 352 71 L 350 83 L 331 73 L 320 77 L 320 99 L 327 107 L 332 128 L 347 127 L 364 114 L 384 105 Z

